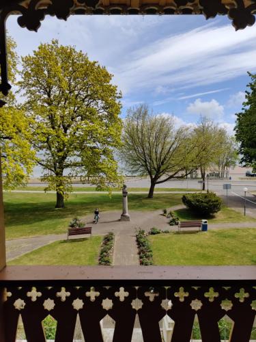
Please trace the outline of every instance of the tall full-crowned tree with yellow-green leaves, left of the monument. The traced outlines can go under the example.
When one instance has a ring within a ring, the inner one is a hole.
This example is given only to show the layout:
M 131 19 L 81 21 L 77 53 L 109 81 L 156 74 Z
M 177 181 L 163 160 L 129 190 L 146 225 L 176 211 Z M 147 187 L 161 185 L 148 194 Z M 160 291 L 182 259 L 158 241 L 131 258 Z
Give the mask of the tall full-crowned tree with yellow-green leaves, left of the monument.
M 118 181 L 113 157 L 121 142 L 121 95 L 112 75 L 85 53 L 57 40 L 23 57 L 20 92 L 33 119 L 33 146 L 56 207 L 72 190 L 74 176 L 91 177 L 98 187 Z

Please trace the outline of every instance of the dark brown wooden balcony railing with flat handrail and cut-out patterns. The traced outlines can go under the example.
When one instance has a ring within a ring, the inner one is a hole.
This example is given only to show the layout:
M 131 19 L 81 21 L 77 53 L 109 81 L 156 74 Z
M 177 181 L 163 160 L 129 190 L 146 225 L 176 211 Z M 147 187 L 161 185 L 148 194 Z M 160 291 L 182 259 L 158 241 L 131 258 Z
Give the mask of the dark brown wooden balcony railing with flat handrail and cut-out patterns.
M 229 341 L 248 342 L 256 313 L 255 267 L 6 267 L 0 272 L 3 342 L 21 316 L 28 342 L 45 342 L 42 321 L 57 320 L 55 341 L 71 342 L 77 315 L 86 342 L 101 342 L 100 321 L 115 321 L 113 341 L 130 342 L 134 320 L 145 342 L 161 342 L 159 321 L 174 321 L 171 342 L 190 341 L 195 315 L 203 342 L 221 341 L 218 321 L 233 322 Z

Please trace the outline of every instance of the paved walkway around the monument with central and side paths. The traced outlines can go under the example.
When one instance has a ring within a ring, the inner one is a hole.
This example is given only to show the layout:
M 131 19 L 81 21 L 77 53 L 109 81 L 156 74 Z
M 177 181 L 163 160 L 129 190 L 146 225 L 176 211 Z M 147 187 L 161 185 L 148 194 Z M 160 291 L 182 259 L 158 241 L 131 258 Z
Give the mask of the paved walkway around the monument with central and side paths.
M 183 205 L 172 207 L 172 210 L 183 208 Z M 100 213 L 100 221 L 93 224 L 93 216 L 82 218 L 87 225 L 93 226 L 93 235 L 105 235 L 109 231 L 115 233 L 114 265 L 138 265 L 137 246 L 135 241 L 135 229 L 142 228 L 150 231 L 150 228 L 169 229 L 177 231 L 177 226 L 169 226 L 169 219 L 160 215 L 161 210 L 156 211 L 130 211 L 130 222 L 120 222 L 120 211 L 105 211 Z M 256 228 L 256 222 L 219 223 L 210 224 L 210 229 L 221 228 Z M 53 241 L 66 239 L 66 234 L 44 235 L 42 237 L 30 237 L 6 241 L 7 260 L 10 261 L 31 250 L 40 248 Z

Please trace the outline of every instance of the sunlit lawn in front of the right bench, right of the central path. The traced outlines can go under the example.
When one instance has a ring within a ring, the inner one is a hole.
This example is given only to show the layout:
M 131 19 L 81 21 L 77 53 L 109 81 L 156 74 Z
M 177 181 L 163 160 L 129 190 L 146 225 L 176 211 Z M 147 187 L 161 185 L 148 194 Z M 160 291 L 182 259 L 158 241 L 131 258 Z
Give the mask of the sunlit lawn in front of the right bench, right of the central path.
M 256 229 L 220 229 L 148 237 L 154 265 L 256 265 Z

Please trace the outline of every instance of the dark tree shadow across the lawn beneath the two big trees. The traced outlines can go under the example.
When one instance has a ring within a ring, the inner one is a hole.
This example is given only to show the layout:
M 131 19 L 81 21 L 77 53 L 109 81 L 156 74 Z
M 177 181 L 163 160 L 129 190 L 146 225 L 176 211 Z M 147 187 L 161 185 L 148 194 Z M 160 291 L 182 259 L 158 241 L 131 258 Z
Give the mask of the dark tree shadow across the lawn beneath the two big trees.
M 153 199 L 145 194 L 130 194 L 130 210 L 156 210 L 180 204 L 181 196 L 177 194 L 157 194 Z M 66 207 L 55 209 L 55 194 L 16 194 L 5 193 L 4 209 L 7 227 L 38 224 L 44 221 L 68 220 L 75 216 L 94 213 L 96 207 L 100 211 L 121 210 L 122 194 L 72 194 L 66 201 Z

